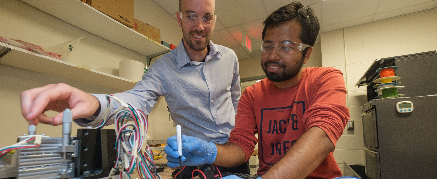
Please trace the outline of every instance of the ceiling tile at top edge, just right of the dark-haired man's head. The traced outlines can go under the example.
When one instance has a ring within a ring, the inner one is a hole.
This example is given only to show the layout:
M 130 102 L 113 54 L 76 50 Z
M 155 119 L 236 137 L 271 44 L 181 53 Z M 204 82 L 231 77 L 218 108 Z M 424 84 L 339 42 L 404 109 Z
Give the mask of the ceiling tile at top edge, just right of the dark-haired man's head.
M 322 25 L 326 27 L 370 16 L 375 13 L 378 2 L 379 0 L 325 0 L 322 2 Z

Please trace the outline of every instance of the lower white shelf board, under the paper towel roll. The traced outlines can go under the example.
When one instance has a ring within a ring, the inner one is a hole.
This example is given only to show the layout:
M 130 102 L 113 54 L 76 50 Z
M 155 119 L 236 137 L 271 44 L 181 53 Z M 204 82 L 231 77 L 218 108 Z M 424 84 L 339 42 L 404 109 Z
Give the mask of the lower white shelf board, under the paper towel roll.
M 76 64 L 61 61 L 0 42 L 0 50 L 4 47 L 10 47 L 11 50 L 0 58 L 0 64 L 121 91 L 130 90 L 136 84 L 132 80 L 126 78 L 106 74 L 93 69 L 87 70 L 78 68 L 76 67 Z

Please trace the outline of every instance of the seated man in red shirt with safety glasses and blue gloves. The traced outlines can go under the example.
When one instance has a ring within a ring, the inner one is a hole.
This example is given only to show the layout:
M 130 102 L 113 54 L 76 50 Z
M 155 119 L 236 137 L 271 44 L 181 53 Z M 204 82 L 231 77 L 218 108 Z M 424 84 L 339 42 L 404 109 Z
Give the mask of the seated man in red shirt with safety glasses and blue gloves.
M 228 143 L 183 135 L 183 165 L 240 165 L 249 160 L 259 139 L 257 174 L 262 179 L 341 176 L 333 150 L 349 120 L 343 74 L 335 68 L 302 69 L 319 33 L 314 10 L 293 2 L 263 24 L 261 65 L 267 78 L 241 95 Z M 167 143 L 167 164 L 176 167 L 175 136 Z

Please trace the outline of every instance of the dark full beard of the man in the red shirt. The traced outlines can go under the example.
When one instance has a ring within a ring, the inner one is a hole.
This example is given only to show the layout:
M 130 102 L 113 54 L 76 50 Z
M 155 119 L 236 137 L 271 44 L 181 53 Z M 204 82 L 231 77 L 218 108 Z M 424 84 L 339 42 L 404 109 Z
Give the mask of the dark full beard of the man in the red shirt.
M 286 66 L 284 63 L 279 62 L 279 61 L 266 61 L 264 62 L 264 64 L 261 64 L 263 67 L 263 71 L 266 74 L 267 78 L 270 81 L 275 81 L 275 82 L 280 82 L 280 81 L 286 81 L 289 80 L 293 77 L 296 76 L 296 74 L 299 73 L 300 69 L 303 66 L 303 61 L 304 61 L 304 57 L 301 58 L 300 61 L 298 61 L 297 63 L 291 65 L 291 66 Z M 267 65 L 269 64 L 276 64 L 279 65 L 283 68 L 281 73 L 272 73 L 270 71 L 267 71 Z

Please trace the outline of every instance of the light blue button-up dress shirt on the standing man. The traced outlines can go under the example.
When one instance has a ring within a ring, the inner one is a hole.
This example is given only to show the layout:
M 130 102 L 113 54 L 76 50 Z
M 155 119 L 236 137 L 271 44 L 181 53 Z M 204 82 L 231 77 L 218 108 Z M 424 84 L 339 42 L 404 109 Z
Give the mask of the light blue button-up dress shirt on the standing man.
M 241 95 L 238 58 L 234 51 L 222 45 L 210 41 L 209 47 L 205 62 L 191 61 L 181 41 L 178 47 L 156 60 L 132 90 L 114 96 L 146 114 L 158 97 L 164 96 L 171 118 L 181 125 L 183 134 L 225 143 L 234 128 Z M 104 111 L 108 104 L 106 97 L 92 95 L 99 99 Z M 119 106 L 111 100 L 111 112 Z M 81 126 L 97 126 L 102 118 L 103 114 L 99 114 L 92 122 L 91 118 L 75 122 Z

